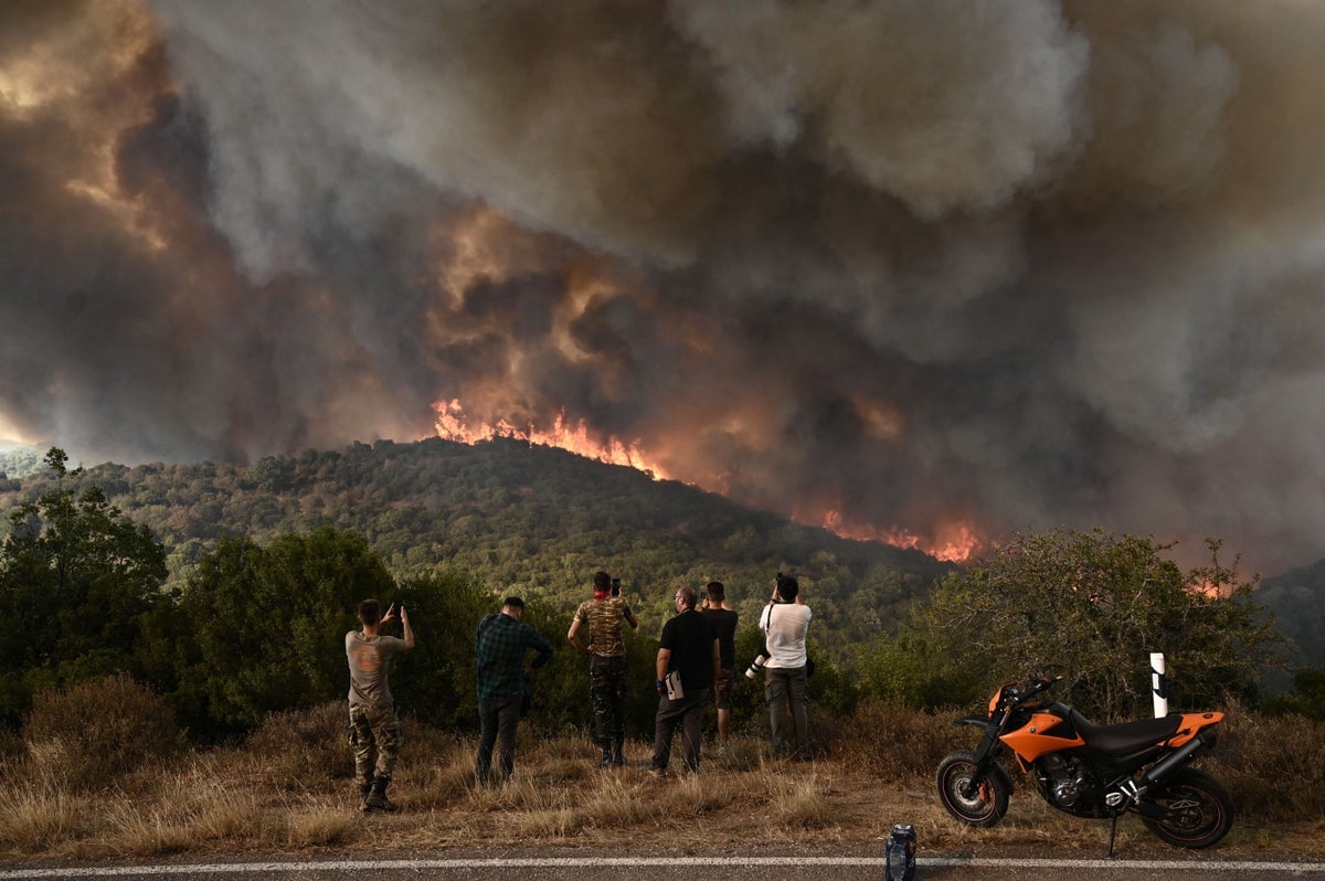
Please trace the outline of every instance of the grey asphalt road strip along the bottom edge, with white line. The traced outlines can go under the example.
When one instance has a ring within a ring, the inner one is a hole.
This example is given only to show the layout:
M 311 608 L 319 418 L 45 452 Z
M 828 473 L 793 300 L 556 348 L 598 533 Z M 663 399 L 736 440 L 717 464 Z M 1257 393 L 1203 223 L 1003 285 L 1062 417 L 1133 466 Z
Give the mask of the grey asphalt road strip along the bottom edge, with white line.
M 465 881 L 694 881 L 697 874 L 722 881 L 881 881 L 881 853 L 869 855 L 657 855 L 657 856 L 567 856 L 566 852 L 538 855 L 436 855 L 390 860 L 248 860 L 233 862 L 170 862 L 156 865 L 61 865 L 0 866 L 0 881 L 19 878 L 170 878 L 171 881 L 404 881 L 443 878 Z M 1178 853 L 1171 860 L 1092 858 L 1077 852 L 1040 856 L 980 856 L 921 853 L 917 881 L 962 878 L 962 881 L 1035 880 L 1053 881 L 1137 881 L 1163 877 L 1165 881 L 1232 881 L 1321 878 L 1325 862 L 1291 856 L 1264 858 L 1220 858 L 1218 855 Z

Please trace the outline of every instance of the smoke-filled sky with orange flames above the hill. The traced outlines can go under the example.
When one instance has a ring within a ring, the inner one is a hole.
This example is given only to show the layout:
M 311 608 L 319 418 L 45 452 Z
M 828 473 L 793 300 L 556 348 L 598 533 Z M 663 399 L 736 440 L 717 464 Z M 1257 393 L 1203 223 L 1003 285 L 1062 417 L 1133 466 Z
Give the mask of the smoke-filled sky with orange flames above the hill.
M 1306 0 L 8 0 L 0 437 L 553 432 L 941 554 L 1306 564 L 1322 44 Z

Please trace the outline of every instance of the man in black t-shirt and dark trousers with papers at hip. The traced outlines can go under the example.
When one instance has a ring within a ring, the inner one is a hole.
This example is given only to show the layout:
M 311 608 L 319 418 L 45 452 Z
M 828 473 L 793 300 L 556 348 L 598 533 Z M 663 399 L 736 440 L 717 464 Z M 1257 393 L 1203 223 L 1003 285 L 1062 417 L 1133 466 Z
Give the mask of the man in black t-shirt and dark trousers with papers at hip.
M 678 588 L 672 597 L 677 616 L 662 625 L 656 662 L 659 711 L 653 719 L 652 776 L 665 776 L 672 758 L 672 737 L 681 727 L 681 758 L 690 771 L 700 770 L 700 737 L 704 707 L 713 697 L 713 682 L 719 669 L 718 637 L 713 625 L 696 608 L 693 587 Z M 681 680 L 682 696 L 669 696 L 668 673 Z

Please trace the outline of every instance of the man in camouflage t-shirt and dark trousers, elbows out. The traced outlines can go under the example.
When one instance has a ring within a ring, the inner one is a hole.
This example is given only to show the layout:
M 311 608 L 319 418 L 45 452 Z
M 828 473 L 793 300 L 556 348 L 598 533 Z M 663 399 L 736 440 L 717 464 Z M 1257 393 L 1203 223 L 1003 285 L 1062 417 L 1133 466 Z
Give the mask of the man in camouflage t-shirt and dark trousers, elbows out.
M 617 584 L 620 584 L 617 582 Z M 607 572 L 594 575 L 594 599 L 575 609 L 566 639 L 590 661 L 590 702 L 594 706 L 594 741 L 603 750 L 598 767 L 625 764 L 625 640 L 621 621 L 631 629 L 640 625 L 625 600 L 613 590 Z M 588 624 L 588 645 L 579 637 L 580 625 Z

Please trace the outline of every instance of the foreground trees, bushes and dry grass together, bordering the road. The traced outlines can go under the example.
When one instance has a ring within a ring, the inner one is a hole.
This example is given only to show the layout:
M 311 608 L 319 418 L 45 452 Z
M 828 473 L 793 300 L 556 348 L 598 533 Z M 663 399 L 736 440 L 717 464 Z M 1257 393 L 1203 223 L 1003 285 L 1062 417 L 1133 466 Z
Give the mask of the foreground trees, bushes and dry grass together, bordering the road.
M 489 791 L 472 786 L 473 628 L 509 586 L 456 566 L 395 570 L 367 535 L 334 523 L 221 535 L 172 579 L 151 529 L 68 469 L 61 450 L 46 466 L 49 482 L 11 510 L 0 544 L 0 613 L 13 624 L 0 632 L 8 860 L 753 847 L 767 843 L 770 824 L 786 845 L 869 848 L 896 821 L 916 824 L 928 848 L 1102 849 L 1105 824 L 1052 813 L 1024 780 L 1002 825 L 962 828 L 941 812 L 931 776 L 946 752 L 971 746 L 970 729 L 950 721 L 982 711 L 1004 681 L 1057 674 L 1056 697 L 1096 721 L 1149 715 L 1153 649 L 1169 656 L 1173 709 L 1228 713 L 1203 759 L 1239 809 L 1220 847 L 1325 852 L 1321 677 L 1298 672 L 1289 700 L 1261 701 L 1260 672 L 1281 662 L 1283 639 L 1253 601 L 1255 579 L 1215 541 L 1210 562 L 1183 572 L 1151 538 L 1016 537 L 962 570 L 935 571 L 901 605 L 893 587 L 909 576 L 867 567 L 861 583 L 844 584 L 851 567 L 816 551 L 819 568 L 796 570 L 815 609 L 815 762 L 770 760 L 762 690 L 738 670 L 737 738 L 701 775 L 645 774 L 648 688 L 629 696 L 629 766 L 595 772 L 587 670 L 562 650 L 533 677 L 515 780 Z M 647 535 L 617 541 L 647 555 Z M 768 574 L 786 558 L 745 566 Z M 576 558 L 575 578 L 595 567 Z M 631 595 L 645 620 L 627 635 L 631 669 L 652 669 L 665 596 L 704 580 L 670 575 Z M 743 583 L 755 611 L 765 587 Z M 407 729 L 392 790 L 403 809 L 390 816 L 355 809 L 346 743 L 342 639 L 370 595 L 405 603 L 419 637 L 391 674 Z M 876 616 L 859 631 L 868 637 L 843 641 L 835 616 L 864 615 L 871 595 L 880 608 L 893 603 L 888 627 Z M 525 623 L 563 645 L 580 597 L 527 599 Z M 737 635 L 742 670 L 762 640 L 754 617 L 743 613 Z M 1126 847 L 1162 847 L 1138 823 L 1120 832 Z

